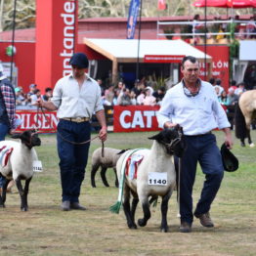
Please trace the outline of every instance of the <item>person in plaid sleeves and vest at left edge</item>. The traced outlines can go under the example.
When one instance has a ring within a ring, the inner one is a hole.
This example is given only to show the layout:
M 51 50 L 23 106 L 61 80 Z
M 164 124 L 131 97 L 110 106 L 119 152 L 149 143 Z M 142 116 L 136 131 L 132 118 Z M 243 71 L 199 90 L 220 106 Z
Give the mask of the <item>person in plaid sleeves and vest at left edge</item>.
M 16 124 L 16 93 L 11 81 L 3 73 L 0 64 L 0 141 L 4 141 L 7 134 L 14 134 Z M 6 179 L 0 174 L 0 193 Z

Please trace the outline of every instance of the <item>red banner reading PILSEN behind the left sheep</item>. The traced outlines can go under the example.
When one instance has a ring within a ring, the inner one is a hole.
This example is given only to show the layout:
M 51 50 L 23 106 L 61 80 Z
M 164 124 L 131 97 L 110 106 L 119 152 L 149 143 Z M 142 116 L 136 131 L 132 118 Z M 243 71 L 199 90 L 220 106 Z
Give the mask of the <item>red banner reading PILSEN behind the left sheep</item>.
M 17 110 L 16 117 L 22 120 L 21 125 L 16 130 L 22 132 L 30 129 L 38 129 L 39 133 L 56 133 L 58 117 L 56 111 L 46 111 L 43 114 L 37 110 Z

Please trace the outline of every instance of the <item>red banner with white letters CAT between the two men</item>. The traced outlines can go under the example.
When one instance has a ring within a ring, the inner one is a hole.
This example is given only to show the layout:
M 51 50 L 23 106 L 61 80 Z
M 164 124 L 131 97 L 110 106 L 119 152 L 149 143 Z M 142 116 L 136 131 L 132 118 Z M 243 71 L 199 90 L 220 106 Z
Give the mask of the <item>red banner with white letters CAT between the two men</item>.
M 161 130 L 156 120 L 159 106 L 114 106 L 113 132 L 149 132 Z

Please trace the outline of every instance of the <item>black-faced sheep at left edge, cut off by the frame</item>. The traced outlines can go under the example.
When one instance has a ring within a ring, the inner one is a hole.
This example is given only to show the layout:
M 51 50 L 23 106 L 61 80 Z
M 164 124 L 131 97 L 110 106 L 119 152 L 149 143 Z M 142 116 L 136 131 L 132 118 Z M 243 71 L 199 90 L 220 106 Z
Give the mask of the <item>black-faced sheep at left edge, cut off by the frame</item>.
M 20 142 L 1 141 L 1 149 L 9 149 L 10 156 L 2 155 L 2 165 L 0 164 L 0 175 L 7 179 L 2 194 L 0 195 L 0 207 L 5 207 L 6 190 L 9 182 L 14 179 L 21 196 L 21 211 L 27 211 L 27 193 L 29 183 L 33 176 L 33 161 L 38 160 L 34 146 L 40 146 L 41 140 L 35 130 L 24 131 L 21 134 L 15 134 L 11 138 L 21 139 Z M 4 160 L 4 163 L 3 163 Z M 1 161 L 0 161 L 1 163 Z M 21 180 L 25 180 L 24 189 Z

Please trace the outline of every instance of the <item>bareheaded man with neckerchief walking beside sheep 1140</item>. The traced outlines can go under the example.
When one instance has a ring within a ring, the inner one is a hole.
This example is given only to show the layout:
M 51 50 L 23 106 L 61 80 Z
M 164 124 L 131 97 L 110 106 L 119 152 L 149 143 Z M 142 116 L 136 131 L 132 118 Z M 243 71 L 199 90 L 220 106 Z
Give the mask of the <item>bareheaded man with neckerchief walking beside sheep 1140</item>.
M 213 86 L 198 78 L 198 61 L 192 56 L 185 57 L 181 71 L 184 78 L 167 91 L 157 112 L 157 120 L 164 128 L 180 124 L 184 130 L 186 149 L 181 159 L 180 232 L 189 233 L 192 231 L 193 215 L 202 226 L 214 226 L 209 210 L 220 188 L 224 167 L 216 138 L 211 131 L 216 127 L 223 130 L 229 149 L 233 146 L 233 140 L 229 128 L 231 125 Z M 205 174 L 205 182 L 192 214 L 192 187 L 197 162 Z

